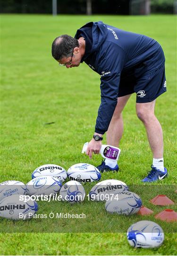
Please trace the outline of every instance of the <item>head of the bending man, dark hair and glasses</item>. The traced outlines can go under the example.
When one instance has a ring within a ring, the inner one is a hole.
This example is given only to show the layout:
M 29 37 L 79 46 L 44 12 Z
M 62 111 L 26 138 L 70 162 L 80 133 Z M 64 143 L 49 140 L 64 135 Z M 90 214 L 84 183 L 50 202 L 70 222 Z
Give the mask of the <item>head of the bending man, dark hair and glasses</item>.
M 81 44 L 82 45 L 82 44 Z M 52 43 L 51 54 L 59 64 L 69 67 L 79 66 L 82 59 L 82 50 L 79 41 L 68 35 L 55 38 Z

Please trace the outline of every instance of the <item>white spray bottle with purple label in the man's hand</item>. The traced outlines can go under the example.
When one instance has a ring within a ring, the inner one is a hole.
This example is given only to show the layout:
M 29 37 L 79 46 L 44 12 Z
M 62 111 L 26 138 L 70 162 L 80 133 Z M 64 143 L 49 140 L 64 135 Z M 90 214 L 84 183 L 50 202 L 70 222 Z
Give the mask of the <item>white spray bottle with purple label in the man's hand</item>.
M 87 146 L 88 142 L 85 142 L 82 149 L 82 153 L 86 152 Z M 102 155 L 103 158 L 117 162 L 118 157 L 120 155 L 120 151 L 120 148 L 116 146 L 102 145 L 99 153 Z

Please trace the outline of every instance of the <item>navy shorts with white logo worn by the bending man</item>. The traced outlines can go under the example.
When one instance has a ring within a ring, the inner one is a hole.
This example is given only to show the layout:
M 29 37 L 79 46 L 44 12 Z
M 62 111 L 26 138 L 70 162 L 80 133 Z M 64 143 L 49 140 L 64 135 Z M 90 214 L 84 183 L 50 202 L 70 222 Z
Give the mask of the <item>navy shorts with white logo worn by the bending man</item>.
M 161 65 L 151 73 L 144 73 L 140 77 L 124 76 L 120 78 L 118 97 L 136 93 L 136 102 L 154 101 L 160 94 L 167 91 L 165 65 Z

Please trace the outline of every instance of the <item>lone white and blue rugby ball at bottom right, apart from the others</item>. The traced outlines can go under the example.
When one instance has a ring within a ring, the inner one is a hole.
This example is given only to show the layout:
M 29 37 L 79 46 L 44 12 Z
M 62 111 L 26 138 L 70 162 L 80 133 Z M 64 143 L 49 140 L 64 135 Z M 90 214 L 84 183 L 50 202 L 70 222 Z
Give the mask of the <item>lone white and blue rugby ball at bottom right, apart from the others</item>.
M 141 220 L 133 224 L 127 230 L 128 243 L 135 248 L 160 247 L 164 240 L 164 232 L 161 227 L 149 220 Z

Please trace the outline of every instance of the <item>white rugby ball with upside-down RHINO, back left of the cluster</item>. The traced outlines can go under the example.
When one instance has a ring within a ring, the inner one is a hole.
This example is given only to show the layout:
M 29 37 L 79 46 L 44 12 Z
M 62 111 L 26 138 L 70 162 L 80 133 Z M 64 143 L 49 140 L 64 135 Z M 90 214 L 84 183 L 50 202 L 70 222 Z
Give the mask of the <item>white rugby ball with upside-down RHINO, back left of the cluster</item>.
M 32 173 L 32 179 L 39 176 L 52 176 L 59 179 L 59 181 L 64 182 L 67 179 L 67 172 L 59 165 L 41 165 Z

